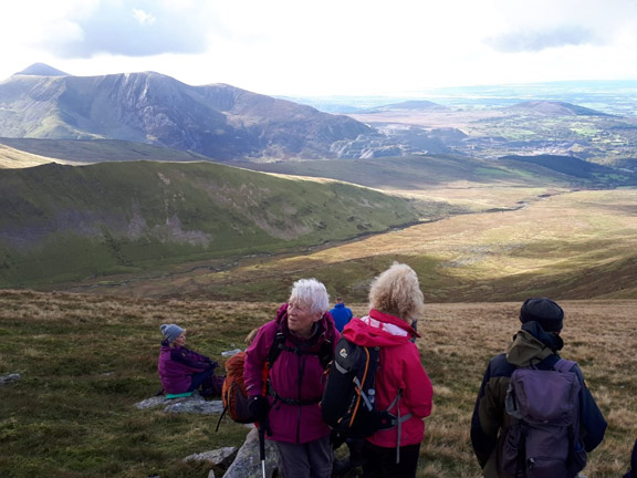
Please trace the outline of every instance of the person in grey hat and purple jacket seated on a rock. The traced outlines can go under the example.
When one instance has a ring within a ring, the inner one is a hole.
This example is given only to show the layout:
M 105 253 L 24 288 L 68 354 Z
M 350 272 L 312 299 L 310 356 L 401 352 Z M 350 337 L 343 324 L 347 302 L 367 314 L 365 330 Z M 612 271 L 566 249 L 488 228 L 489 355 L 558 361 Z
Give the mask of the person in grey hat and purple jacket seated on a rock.
M 176 324 L 163 324 L 159 353 L 159 378 L 166 394 L 182 394 L 200 388 L 203 397 L 221 395 L 223 377 L 216 376 L 217 362 L 191 351 L 186 344 L 186 331 Z

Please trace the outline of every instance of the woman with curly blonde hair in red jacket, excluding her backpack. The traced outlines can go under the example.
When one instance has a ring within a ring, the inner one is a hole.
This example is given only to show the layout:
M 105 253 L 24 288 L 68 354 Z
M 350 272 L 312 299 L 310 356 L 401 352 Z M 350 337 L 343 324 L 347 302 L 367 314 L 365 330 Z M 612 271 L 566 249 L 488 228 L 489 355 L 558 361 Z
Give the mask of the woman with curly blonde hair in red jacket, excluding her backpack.
M 372 283 L 368 315 L 352 319 L 343 330 L 343 336 L 357 345 L 379 347 L 376 409 L 404 417 L 400 426 L 365 438 L 365 478 L 416 476 L 425 436 L 422 418 L 431 414 L 434 395 L 414 343 L 420 336 L 416 322 L 422 308 L 418 276 L 409 266 L 395 262 Z

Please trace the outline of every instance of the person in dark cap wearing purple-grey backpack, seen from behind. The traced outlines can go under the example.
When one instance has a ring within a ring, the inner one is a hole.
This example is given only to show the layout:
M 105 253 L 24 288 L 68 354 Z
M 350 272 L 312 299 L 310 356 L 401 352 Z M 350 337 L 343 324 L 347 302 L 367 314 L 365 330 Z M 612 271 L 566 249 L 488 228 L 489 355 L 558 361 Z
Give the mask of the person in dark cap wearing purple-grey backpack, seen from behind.
M 563 309 L 549 298 L 532 298 L 519 318 L 521 329 L 507 353 L 493 357 L 484 372 L 471 419 L 473 451 L 485 478 L 574 478 L 586 453 L 604 439 L 606 420 L 579 366 L 560 356 Z M 519 387 L 529 397 L 540 391 L 543 398 L 528 404 L 515 395 Z

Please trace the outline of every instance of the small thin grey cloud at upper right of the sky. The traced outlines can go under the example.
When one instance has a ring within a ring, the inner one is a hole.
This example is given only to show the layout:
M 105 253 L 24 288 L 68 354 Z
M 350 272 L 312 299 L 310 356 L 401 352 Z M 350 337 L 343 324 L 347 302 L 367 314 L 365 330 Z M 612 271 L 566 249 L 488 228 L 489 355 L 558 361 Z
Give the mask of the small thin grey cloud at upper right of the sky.
M 596 34 L 583 27 L 551 30 L 522 30 L 491 37 L 485 43 L 503 53 L 540 52 L 561 46 L 577 46 L 597 42 Z

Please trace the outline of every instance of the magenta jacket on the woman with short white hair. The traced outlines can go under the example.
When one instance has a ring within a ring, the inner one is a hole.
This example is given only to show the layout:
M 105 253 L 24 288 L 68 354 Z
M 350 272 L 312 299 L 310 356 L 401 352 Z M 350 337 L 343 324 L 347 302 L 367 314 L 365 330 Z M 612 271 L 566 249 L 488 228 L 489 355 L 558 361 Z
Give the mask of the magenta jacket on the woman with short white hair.
M 331 354 L 340 337 L 328 312 L 315 322 L 314 334 L 309 340 L 293 335 L 288 329 L 288 304 L 283 304 L 276 319 L 259 329 L 252 344 L 246 351 L 243 378 L 249 396 L 261 395 L 263 389 L 263 364 L 276 331 L 285 335 L 285 345 L 306 352 L 283 350 L 270 370 L 271 388 L 278 395 L 268 394 L 270 402 L 270 428 L 274 441 L 304 444 L 330 435 L 323 422 L 318 402 L 325 387 L 325 374 L 318 360 L 321 344 L 331 341 Z M 288 403 L 285 403 L 288 402 Z

